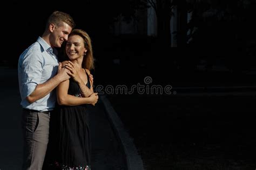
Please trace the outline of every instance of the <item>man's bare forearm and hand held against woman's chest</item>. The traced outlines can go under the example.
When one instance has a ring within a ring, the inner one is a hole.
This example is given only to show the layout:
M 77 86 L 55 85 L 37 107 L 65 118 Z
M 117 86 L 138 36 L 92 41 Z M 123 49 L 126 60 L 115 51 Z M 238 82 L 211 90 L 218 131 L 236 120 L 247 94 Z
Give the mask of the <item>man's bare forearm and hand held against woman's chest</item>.
M 60 82 L 63 82 L 70 78 L 68 72 L 69 70 L 62 68 L 62 63 L 59 63 L 58 74 L 52 77 L 50 80 L 42 84 L 38 84 L 35 90 L 29 96 L 26 97 L 26 100 L 29 103 L 33 103 L 48 95 L 53 89 L 55 89 L 58 86 Z

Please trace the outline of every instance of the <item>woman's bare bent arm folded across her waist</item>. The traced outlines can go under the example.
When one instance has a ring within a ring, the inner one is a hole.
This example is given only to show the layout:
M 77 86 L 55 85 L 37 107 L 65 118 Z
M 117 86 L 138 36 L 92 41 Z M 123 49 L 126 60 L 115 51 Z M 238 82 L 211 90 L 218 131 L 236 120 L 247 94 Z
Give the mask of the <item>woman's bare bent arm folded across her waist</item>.
M 95 105 L 98 101 L 97 93 L 93 93 L 89 97 L 76 97 L 68 94 L 69 80 L 66 80 L 59 84 L 57 87 L 57 101 L 59 105 L 81 105 L 92 104 Z

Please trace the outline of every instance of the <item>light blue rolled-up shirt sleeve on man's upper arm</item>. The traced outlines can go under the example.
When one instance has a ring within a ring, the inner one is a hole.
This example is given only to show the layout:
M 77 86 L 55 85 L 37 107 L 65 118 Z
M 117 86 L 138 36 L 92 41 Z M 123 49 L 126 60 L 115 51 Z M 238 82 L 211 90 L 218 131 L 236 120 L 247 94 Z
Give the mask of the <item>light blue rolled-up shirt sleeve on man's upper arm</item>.
M 22 62 L 22 98 L 29 96 L 40 83 L 43 72 L 43 56 L 39 49 L 31 48 Z

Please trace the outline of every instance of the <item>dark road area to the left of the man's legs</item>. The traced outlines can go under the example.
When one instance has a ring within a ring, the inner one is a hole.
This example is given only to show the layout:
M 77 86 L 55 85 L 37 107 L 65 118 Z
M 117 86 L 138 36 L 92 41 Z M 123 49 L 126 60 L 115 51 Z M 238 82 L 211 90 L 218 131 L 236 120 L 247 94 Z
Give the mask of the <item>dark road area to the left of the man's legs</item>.
M 0 69 L 0 168 L 21 169 L 22 131 L 18 77 L 15 69 Z

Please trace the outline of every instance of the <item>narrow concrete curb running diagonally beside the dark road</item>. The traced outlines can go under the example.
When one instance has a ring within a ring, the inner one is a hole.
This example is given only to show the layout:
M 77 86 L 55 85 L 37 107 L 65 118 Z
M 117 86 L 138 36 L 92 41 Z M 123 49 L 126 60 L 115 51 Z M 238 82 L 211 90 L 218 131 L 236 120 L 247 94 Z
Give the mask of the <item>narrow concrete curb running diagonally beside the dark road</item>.
M 118 140 L 123 146 L 127 169 L 144 170 L 142 158 L 138 154 L 137 148 L 133 144 L 133 139 L 125 131 L 124 125 L 118 117 L 116 111 L 114 111 L 110 101 L 106 98 L 105 95 L 100 95 L 99 98 L 104 104 L 106 116 L 109 118 L 112 128 L 114 129 L 114 133 L 116 133 Z

